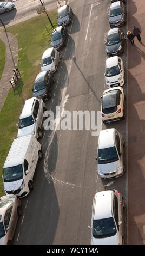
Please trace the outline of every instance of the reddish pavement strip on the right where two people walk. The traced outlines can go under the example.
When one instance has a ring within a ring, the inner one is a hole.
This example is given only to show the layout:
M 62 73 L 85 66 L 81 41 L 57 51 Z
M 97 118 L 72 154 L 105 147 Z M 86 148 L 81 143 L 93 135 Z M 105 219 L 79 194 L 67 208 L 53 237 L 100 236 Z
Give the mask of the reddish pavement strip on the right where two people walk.
M 145 2 L 128 1 L 128 27 L 141 39 L 128 42 L 128 244 L 145 243 Z

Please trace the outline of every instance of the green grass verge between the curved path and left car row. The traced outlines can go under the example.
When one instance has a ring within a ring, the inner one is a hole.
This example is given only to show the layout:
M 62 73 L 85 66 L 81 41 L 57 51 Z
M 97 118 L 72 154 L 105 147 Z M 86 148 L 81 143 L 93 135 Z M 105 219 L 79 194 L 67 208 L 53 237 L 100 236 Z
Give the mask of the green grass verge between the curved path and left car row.
M 48 13 L 54 27 L 57 27 L 57 10 Z M 32 96 L 32 86 L 38 72 L 41 71 L 41 62 L 43 52 L 50 47 L 50 35 L 52 33 L 48 17 L 44 14 L 43 21 L 39 16 L 33 17 L 18 25 L 6 28 L 17 36 L 18 40 L 18 70 L 21 72 L 21 79 L 17 88 L 10 90 L 4 105 L 0 112 L 0 196 L 4 194 L 3 164 L 9 153 L 12 141 L 17 137 L 17 127 L 19 114 L 23 102 Z M 48 33 L 48 31 L 50 33 Z

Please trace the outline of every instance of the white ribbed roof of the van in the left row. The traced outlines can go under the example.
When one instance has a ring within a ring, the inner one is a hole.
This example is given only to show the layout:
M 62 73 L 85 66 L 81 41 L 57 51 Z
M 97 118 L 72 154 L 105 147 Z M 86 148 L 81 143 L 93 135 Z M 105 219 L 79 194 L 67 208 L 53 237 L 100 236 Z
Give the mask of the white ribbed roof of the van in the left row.
M 4 168 L 16 166 L 23 162 L 32 136 L 27 135 L 14 139 L 9 154 L 6 157 Z

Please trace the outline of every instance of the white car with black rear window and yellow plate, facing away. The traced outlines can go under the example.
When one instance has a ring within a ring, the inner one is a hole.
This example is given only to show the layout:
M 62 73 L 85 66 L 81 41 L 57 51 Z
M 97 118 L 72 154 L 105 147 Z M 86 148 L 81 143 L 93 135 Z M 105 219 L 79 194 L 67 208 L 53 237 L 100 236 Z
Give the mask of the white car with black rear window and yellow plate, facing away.
M 103 123 L 110 123 L 124 117 L 124 91 L 120 86 L 105 90 L 101 98 Z

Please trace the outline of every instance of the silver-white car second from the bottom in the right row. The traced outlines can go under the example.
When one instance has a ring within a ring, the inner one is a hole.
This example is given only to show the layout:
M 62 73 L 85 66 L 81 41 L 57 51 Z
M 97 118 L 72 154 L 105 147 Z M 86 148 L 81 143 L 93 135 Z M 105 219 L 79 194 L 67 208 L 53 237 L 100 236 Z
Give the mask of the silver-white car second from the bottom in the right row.
M 115 128 L 102 130 L 98 137 L 97 173 L 101 179 L 117 178 L 125 172 L 124 140 Z

